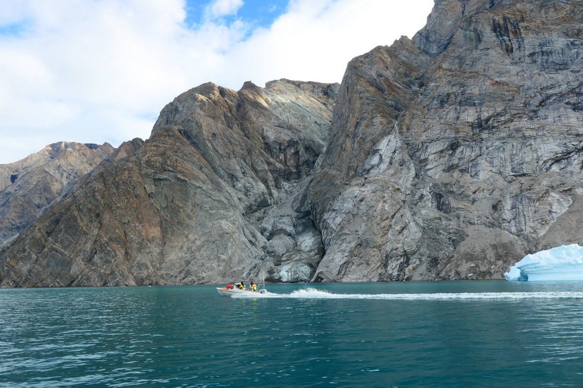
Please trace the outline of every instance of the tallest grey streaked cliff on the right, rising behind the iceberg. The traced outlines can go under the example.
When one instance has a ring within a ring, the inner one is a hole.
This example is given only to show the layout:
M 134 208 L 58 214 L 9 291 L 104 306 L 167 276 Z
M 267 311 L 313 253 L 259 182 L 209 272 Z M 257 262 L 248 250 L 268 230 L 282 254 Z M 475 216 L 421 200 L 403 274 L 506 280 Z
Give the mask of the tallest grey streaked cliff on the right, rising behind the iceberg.
M 581 1 L 436 1 L 348 65 L 308 203 L 314 281 L 501 278 L 581 241 Z

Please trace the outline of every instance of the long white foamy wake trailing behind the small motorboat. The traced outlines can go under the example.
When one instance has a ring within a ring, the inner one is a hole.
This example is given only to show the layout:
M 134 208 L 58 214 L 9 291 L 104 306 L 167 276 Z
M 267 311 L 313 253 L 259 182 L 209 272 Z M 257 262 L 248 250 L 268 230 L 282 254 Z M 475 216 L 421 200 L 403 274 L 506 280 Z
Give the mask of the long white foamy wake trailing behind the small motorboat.
M 583 299 L 579 291 L 547 291 L 547 292 L 452 292 L 437 294 L 333 294 L 328 291 L 306 288 L 296 290 L 291 294 L 236 294 L 233 298 L 293 298 L 293 299 L 387 299 L 416 301 L 449 301 L 449 300 L 493 300 L 493 299 Z

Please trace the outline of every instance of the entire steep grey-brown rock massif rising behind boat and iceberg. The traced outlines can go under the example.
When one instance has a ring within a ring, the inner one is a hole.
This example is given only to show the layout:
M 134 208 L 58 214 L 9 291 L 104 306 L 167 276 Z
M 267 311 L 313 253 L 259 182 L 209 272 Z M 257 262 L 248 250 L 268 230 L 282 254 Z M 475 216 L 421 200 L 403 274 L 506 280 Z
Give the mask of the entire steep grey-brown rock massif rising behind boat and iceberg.
M 582 25 L 436 0 L 341 86 L 189 90 L 0 251 L 0 285 L 501 278 L 583 237 Z

